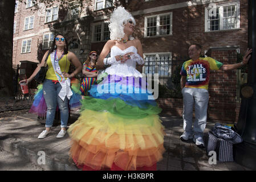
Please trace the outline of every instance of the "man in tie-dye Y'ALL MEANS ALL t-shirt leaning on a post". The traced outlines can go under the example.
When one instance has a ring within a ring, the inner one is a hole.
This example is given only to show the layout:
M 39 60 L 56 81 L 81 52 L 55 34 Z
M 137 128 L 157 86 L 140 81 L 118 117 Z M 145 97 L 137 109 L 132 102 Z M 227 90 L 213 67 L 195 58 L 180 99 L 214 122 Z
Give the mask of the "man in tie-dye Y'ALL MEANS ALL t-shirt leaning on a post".
M 250 59 L 251 49 L 247 49 L 243 61 L 237 64 L 223 64 L 212 57 L 200 57 L 201 46 L 193 44 L 189 47 L 190 60 L 185 61 L 181 68 L 181 89 L 183 95 L 183 120 L 184 133 L 181 140 L 193 138 L 193 142 L 198 147 L 204 147 L 202 134 L 206 127 L 207 108 L 209 101 L 208 85 L 210 80 L 210 70 L 221 69 L 229 71 L 237 69 L 247 64 Z M 193 105 L 195 105 L 195 116 L 193 131 Z

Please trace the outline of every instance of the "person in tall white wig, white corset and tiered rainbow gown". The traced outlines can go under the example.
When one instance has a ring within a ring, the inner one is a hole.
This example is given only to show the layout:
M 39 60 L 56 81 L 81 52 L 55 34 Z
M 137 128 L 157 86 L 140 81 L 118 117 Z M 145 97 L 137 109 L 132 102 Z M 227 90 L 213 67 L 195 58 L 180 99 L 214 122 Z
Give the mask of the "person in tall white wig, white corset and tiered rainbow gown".
M 83 170 L 156 170 L 164 152 L 161 109 L 147 90 L 140 40 L 132 38 L 135 20 L 123 7 L 112 13 L 111 40 L 97 67 L 111 65 L 82 101 L 78 121 L 68 134 L 70 157 Z M 105 58 L 111 52 L 111 57 Z M 98 68 L 97 68 L 98 69 Z

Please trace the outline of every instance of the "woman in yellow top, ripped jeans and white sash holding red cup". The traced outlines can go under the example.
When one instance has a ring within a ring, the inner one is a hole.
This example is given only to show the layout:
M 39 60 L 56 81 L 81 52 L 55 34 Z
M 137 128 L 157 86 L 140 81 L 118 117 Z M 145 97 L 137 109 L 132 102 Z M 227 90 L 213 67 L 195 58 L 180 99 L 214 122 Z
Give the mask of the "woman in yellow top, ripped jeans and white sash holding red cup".
M 39 66 L 35 69 L 30 78 L 27 79 L 27 83 L 29 83 L 39 72 L 40 67 L 45 65 L 46 61 L 48 65 L 46 78 L 43 84 L 38 87 L 38 92 L 34 97 L 30 112 L 37 113 L 38 115 L 45 115 L 46 113 L 46 130 L 43 130 L 38 137 L 45 138 L 46 135 L 50 133 L 50 129 L 54 122 L 55 111 L 58 106 L 58 109 L 60 110 L 60 127 L 62 129 L 56 138 L 62 138 L 66 134 L 68 104 L 71 107 L 70 109 L 79 104 L 80 94 L 74 90 L 79 91 L 80 84 L 77 79 L 77 81 L 71 82 L 71 78 L 82 70 L 82 64 L 74 53 L 68 51 L 67 39 L 61 34 L 56 35 L 49 51 L 50 55 L 48 55 L 48 51 L 44 54 Z M 76 69 L 69 74 L 68 70 L 71 63 L 75 65 Z M 26 82 L 26 80 L 22 80 L 19 83 L 21 82 Z

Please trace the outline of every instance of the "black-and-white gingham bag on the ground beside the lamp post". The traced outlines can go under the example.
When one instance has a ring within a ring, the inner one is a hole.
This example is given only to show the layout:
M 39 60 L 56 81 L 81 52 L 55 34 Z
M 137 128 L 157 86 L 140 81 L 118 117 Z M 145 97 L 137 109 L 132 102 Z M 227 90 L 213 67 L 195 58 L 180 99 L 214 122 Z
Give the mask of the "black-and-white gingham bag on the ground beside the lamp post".
M 219 162 L 233 162 L 233 143 L 217 138 L 212 131 L 208 132 L 207 155 L 210 151 L 216 151 Z

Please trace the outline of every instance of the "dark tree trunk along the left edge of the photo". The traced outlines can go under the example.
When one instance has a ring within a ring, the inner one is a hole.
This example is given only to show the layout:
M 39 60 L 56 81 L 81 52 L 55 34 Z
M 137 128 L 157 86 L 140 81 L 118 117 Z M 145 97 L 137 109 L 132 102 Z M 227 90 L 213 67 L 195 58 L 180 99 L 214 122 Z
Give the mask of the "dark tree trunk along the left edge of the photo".
M 13 22 L 15 0 L 0 1 L 0 97 L 13 96 Z

